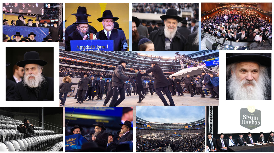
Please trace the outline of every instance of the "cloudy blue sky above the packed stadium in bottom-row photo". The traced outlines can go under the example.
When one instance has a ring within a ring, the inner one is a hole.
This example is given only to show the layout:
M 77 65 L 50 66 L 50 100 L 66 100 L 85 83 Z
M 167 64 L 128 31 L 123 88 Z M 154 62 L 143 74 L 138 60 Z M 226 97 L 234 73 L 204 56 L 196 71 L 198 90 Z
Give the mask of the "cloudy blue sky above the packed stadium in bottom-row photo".
M 136 116 L 150 122 L 189 123 L 205 117 L 204 106 L 137 106 Z

